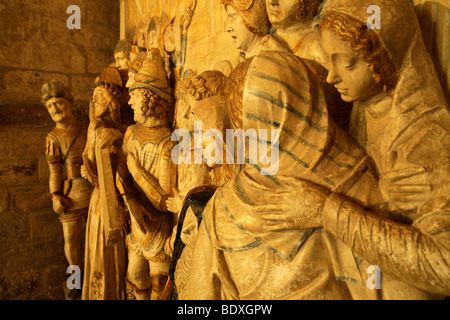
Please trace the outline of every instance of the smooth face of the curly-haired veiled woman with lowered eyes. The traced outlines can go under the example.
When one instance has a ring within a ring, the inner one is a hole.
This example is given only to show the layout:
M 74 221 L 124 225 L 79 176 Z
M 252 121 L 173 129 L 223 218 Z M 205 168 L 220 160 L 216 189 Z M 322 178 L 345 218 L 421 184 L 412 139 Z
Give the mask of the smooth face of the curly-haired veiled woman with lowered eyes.
M 322 47 L 329 58 L 327 82 L 336 87 L 342 100 L 365 101 L 383 90 L 369 64 L 332 31 L 322 31 Z

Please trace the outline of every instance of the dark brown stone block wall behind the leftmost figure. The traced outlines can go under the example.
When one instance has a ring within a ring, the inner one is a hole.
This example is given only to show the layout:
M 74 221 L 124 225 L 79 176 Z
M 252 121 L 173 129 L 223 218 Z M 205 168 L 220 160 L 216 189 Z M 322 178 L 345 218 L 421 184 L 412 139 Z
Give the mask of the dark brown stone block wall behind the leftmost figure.
M 80 30 L 66 26 L 70 5 L 81 9 Z M 64 299 L 62 227 L 43 155 L 53 122 L 40 88 L 64 81 L 87 124 L 91 87 L 113 61 L 119 19 L 118 0 L 0 2 L 0 299 Z

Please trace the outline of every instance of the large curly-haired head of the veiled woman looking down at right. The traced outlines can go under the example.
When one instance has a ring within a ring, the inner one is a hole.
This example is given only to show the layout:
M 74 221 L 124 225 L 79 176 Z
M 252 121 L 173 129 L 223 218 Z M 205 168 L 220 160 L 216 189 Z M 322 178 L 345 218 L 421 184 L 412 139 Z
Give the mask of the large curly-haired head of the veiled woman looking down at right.
M 333 11 L 323 17 L 320 28 L 330 61 L 327 82 L 338 89 L 344 101 L 364 101 L 383 90 L 392 94 L 397 71 L 373 30 Z

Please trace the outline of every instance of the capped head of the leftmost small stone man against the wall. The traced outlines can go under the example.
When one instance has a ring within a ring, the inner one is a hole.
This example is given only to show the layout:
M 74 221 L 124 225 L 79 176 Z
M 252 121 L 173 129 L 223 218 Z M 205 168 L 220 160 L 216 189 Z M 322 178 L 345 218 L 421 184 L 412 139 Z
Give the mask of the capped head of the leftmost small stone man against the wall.
M 46 83 L 41 88 L 41 102 L 55 123 L 73 119 L 73 98 L 69 89 L 60 81 Z

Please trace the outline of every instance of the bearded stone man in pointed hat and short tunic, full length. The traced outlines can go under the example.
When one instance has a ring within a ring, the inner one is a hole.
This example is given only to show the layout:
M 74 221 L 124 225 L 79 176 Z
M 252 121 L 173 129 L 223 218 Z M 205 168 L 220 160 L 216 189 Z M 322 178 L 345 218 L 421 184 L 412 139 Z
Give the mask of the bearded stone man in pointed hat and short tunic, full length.
M 171 257 L 164 246 L 175 225 L 166 201 L 176 186 L 176 167 L 171 159 L 171 90 L 158 50 L 150 51 L 135 80 L 129 103 L 136 125 L 125 133 L 124 153 L 129 172 L 142 191 L 132 196 L 134 199 L 125 196 L 131 213 L 126 281 L 137 299 L 160 300 L 171 290 Z M 134 200 L 137 203 L 131 203 Z

